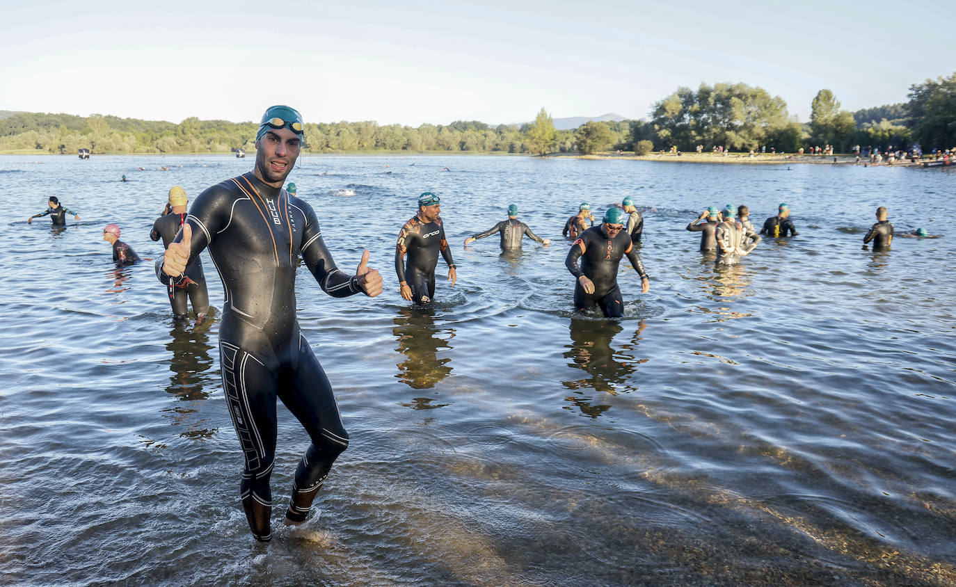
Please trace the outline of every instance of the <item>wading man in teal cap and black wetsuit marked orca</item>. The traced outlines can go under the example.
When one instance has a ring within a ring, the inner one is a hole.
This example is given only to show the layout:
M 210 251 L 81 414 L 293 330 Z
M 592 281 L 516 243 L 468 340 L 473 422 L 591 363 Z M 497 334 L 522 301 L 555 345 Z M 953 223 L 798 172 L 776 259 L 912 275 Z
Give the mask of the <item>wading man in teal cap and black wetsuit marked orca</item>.
M 430 191 L 419 196 L 419 211 L 405 223 L 395 246 L 395 272 L 399 293 L 408 301 L 425 305 L 435 298 L 435 266 L 441 252 L 448 264 L 448 281 L 458 281 L 455 262 L 445 239 L 445 225 L 439 215 L 441 199 Z M 405 253 L 408 260 L 405 261 Z

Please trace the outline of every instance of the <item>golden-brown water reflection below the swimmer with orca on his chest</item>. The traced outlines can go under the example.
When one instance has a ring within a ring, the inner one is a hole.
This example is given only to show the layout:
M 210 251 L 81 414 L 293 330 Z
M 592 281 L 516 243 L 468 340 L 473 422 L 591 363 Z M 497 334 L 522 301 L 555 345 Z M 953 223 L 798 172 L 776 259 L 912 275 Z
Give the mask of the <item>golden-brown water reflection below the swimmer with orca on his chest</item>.
M 451 375 L 451 366 L 447 364 L 451 358 L 440 358 L 438 355 L 439 351 L 452 348 L 450 342 L 455 337 L 455 330 L 451 327 L 437 328 L 434 309 L 402 307 L 394 322 L 392 333 L 399 343 L 396 350 L 404 356 L 398 363 L 399 373 L 396 375 L 402 383 L 413 389 L 430 389 Z M 432 409 L 447 405 L 429 402 L 430 400 L 420 402 L 417 399 L 416 403 L 409 404 L 409 407 Z

